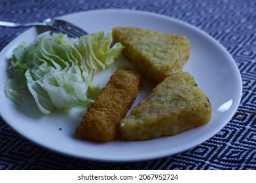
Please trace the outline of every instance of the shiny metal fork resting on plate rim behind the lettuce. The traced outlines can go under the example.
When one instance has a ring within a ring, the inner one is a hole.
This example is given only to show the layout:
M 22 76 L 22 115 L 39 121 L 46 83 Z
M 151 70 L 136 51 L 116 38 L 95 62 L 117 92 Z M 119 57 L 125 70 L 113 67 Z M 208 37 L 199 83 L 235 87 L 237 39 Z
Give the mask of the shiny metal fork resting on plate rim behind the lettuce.
M 71 24 L 70 22 L 66 22 L 64 20 L 47 18 L 46 20 L 43 20 L 43 22 L 31 22 L 26 24 L 0 21 L 0 26 L 5 27 L 31 27 L 37 25 L 50 27 L 56 32 L 67 34 L 69 37 L 81 37 L 83 35 L 88 35 L 86 31 L 80 27 L 77 27 L 77 25 Z

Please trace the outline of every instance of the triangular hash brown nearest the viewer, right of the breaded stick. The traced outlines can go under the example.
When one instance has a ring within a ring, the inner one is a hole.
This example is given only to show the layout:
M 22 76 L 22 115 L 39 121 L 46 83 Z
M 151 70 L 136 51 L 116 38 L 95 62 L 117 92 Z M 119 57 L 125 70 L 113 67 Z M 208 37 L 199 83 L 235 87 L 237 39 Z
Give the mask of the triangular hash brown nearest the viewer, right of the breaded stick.
M 158 84 L 151 95 L 132 109 L 120 124 L 128 141 L 176 135 L 206 124 L 211 104 L 189 73 L 175 73 Z

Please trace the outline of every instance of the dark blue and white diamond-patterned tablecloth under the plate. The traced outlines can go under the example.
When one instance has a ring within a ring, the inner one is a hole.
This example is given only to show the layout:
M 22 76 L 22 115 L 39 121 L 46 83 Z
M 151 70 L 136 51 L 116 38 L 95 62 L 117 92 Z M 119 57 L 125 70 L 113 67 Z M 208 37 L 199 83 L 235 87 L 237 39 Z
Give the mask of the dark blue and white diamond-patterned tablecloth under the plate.
M 41 148 L 0 117 L 0 169 L 256 169 L 256 1 L 27 0 L 0 1 L 0 20 L 35 22 L 72 12 L 126 8 L 192 24 L 219 41 L 242 75 L 242 101 L 230 122 L 208 141 L 174 156 L 130 163 L 71 158 Z M 214 20 L 215 24 L 206 24 Z M 26 28 L 0 27 L 0 50 Z

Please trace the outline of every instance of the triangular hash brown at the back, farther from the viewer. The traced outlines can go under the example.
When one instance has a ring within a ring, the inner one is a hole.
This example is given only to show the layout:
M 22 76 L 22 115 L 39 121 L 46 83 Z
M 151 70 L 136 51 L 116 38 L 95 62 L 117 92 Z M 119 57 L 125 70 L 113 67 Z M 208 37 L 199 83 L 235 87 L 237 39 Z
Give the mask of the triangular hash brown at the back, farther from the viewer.
M 115 27 L 112 33 L 113 42 L 121 42 L 124 46 L 124 57 L 153 84 L 159 84 L 171 73 L 181 71 L 189 59 L 190 43 L 183 35 L 137 27 Z

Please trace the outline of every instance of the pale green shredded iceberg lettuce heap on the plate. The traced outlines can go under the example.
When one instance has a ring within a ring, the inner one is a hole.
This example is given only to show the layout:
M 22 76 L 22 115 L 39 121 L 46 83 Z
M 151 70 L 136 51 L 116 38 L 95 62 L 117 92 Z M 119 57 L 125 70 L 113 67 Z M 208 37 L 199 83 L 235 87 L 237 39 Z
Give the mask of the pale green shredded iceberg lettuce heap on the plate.
M 111 42 L 111 32 L 78 39 L 42 33 L 32 44 L 22 43 L 13 50 L 5 92 L 22 104 L 22 91 L 28 89 L 43 114 L 55 108 L 88 107 L 101 93 L 101 87 L 93 84 L 94 75 L 122 52 L 122 44 Z

